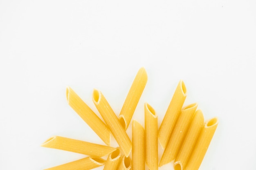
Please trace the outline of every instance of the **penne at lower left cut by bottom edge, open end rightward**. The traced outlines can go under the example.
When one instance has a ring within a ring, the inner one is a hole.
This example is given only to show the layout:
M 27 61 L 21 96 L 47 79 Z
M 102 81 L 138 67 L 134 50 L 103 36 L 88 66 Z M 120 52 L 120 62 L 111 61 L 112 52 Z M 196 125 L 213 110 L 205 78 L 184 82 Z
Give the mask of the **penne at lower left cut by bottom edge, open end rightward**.
M 91 170 L 99 166 L 103 166 L 104 159 L 98 157 L 86 157 L 63 165 L 54 166 L 45 170 Z

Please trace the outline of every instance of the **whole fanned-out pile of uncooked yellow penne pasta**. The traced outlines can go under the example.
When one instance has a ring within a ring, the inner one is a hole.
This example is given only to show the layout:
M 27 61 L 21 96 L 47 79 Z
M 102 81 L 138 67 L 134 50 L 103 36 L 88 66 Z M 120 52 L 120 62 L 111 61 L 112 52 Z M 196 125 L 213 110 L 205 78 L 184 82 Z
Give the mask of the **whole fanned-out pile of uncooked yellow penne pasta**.
M 186 99 L 186 86 L 181 80 L 167 108 L 158 129 L 157 114 L 152 106 L 144 104 L 145 128 L 132 121 L 132 141 L 126 133 L 132 115 L 137 107 L 148 76 L 145 68 L 140 68 L 128 92 L 119 117 L 101 93 L 94 89 L 92 101 L 99 111 L 102 121 L 83 100 L 67 87 L 68 104 L 104 141 L 106 146 L 86 141 L 54 136 L 41 146 L 76 152 L 89 157 L 48 168 L 47 170 L 90 170 L 104 165 L 103 170 L 158 170 L 158 167 L 173 162 L 174 170 L 198 170 L 213 134 L 218 126 L 218 118 L 204 122 L 198 104 L 182 108 Z M 110 146 L 110 135 L 115 137 L 119 147 Z M 158 162 L 158 141 L 164 148 Z M 130 159 L 132 152 L 132 159 Z M 107 160 L 101 157 L 107 156 Z

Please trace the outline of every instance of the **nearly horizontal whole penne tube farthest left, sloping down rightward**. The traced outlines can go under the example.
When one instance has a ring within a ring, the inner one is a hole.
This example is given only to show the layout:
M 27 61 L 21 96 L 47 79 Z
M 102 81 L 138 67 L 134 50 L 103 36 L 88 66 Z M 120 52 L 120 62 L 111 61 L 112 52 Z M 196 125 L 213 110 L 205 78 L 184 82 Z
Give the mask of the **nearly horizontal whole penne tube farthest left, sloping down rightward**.
M 60 136 L 54 136 L 49 138 L 41 146 L 46 148 L 54 148 L 81 153 L 93 157 L 103 157 L 116 150 L 116 148 L 112 148 L 110 146 L 92 144 L 90 142 L 79 141 L 76 139 L 70 139 Z

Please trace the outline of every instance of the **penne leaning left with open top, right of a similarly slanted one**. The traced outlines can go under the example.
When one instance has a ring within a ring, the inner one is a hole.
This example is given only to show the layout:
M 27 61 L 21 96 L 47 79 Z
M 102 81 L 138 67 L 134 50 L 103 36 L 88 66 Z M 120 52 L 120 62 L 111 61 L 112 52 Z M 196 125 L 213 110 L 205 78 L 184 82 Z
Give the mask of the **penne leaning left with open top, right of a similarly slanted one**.
M 130 141 L 130 138 L 126 134 L 124 128 L 121 126 L 114 111 L 108 104 L 103 94 L 96 89 L 94 89 L 93 91 L 92 100 L 96 108 L 99 110 L 99 113 L 103 117 L 104 121 L 110 128 L 122 152 L 126 157 L 128 157 L 132 150 L 132 142 Z

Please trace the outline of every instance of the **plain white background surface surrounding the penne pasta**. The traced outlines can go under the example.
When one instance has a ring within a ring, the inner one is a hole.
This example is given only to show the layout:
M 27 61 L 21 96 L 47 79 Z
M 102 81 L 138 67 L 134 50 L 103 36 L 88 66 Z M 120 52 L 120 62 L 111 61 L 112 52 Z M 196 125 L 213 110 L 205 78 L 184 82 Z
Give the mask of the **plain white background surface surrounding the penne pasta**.
M 144 66 L 134 119 L 144 125 L 148 102 L 160 124 L 183 79 L 185 105 L 219 118 L 200 170 L 255 170 L 255 9 L 254 0 L 0 0 L 0 169 L 84 157 L 40 147 L 53 135 L 103 144 L 68 106 L 66 86 L 97 114 L 98 88 L 119 115 Z

